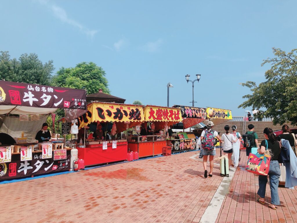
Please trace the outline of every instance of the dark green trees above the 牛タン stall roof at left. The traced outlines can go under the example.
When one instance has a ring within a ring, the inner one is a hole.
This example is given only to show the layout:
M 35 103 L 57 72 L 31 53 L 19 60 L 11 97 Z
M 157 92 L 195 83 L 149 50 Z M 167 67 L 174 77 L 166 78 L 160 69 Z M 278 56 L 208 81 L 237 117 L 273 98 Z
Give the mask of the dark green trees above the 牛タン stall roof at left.
M 22 54 L 10 59 L 8 51 L 0 52 L 0 78 L 5 81 L 50 85 L 54 70 L 53 61 L 43 64 L 37 54 Z

